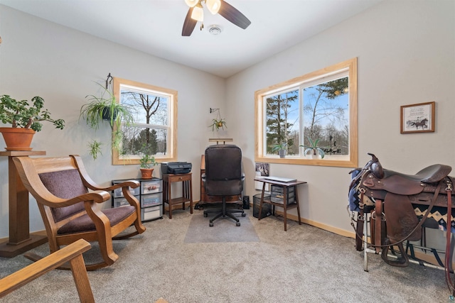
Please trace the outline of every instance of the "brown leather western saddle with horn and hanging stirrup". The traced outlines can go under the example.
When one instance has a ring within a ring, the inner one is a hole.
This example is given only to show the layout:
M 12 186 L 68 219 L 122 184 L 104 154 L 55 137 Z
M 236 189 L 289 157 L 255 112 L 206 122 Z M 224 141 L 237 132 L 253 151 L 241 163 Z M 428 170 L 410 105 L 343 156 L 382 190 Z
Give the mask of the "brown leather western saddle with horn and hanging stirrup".
M 372 160 L 353 179 L 350 187 L 358 184 L 363 196 L 375 202 L 375 209 L 372 211 L 371 241 L 376 251 L 379 252 L 379 248 L 383 248 L 382 259 L 390 265 L 407 266 L 407 253 L 402 242 L 422 238 L 422 228 L 419 227 L 427 218 L 426 215 L 419 221 L 413 204 L 429 205 L 428 214 L 434 205 L 446 207 L 448 205 L 446 187 L 448 184 L 451 186 L 451 177 L 448 176 L 451 167 L 435 164 L 425 167 L 415 175 L 406 175 L 382 168 L 375 155 L 370 153 L 368 155 L 372 156 Z M 441 186 L 442 184 L 447 185 Z M 358 226 L 357 233 L 359 231 L 361 228 Z M 393 245 L 398 246 L 401 254 L 400 258 L 394 261 L 387 259 L 388 249 Z M 357 248 L 360 250 L 359 246 Z

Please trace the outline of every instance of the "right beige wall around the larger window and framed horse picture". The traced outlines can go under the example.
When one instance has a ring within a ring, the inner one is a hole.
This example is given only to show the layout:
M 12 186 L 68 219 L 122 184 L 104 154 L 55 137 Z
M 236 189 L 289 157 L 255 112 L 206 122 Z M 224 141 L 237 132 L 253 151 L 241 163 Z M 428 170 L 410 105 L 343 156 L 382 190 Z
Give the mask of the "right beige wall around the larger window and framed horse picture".
M 255 91 L 353 57 L 358 57 L 358 165 L 375 153 L 384 167 L 409 174 L 437 162 L 455 167 L 454 16 L 455 1 L 384 1 L 230 77 L 228 121 L 239 121 L 232 131 L 247 160 L 247 180 L 254 178 Z M 428 101 L 436 101 L 436 131 L 400 134 L 400 106 Z M 351 232 L 349 171 L 270 165 L 272 175 L 309 182 L 299 190 L 304 219 Z M 258 193 L 252 182 L 247 185 L 247 194 Z

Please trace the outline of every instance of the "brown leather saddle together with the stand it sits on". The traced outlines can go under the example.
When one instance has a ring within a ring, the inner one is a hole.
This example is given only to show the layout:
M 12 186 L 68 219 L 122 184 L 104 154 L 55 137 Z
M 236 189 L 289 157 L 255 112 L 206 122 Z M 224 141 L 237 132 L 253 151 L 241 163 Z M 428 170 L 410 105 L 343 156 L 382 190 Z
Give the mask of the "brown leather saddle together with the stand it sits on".
M 410 241 L 422 241 L 422 226 L 434 206 L 447 209 L 447 238 L 446 238 L 446 280 L 451 292 L 454 293 L 454 283 L 450 280 L 451 268 L 451 199 L 453 193 L 452 178 L 449 177 L 451 167 L 448 165 L 431 165 L 417 172 L 416 175 L 405 175 L 392 170 L 385 170 L 378 158 L 373 154 L 362 170 L 355 170 L 350 184 L 350 198 L 353 192 L 360 193 L 357 207 L 350 201 L 350 210 L 358 211 L 354 227 L 357 250 L 364 251 L 364 270 L 368 271 L 368 253 L 380 253 L 385 263 L 392 266 L 405 267 L 410 260 L 407 256 Z M 353 171 L 351 171 L 352 173 Z M 355 196 L 355 194 L 354 194 Z M 427 207 L 422 219 L 414 211 L 415 205 Z M 368 215 L 370 219 L 368 219 Z M 368 236 L 368 222 L 370 236 Z M 352 222 L 351 225 L 354 226 Z M 370 243 L 368 243 L 368 238 Z M 405 250 L 403 242 L 407 241 Z M 395 255 L 393 246 L 397 246 L 400 255 Z M 373 247 L 371 249 L 369 247 Z M 423 248 L 427 249 L 428 248 Z M 392 255 L 389 254 L 390 250 Z M 434 250 L 433 250 L 434 251 Z M 438 259 L 439 257 L 437 257 Z M 416 261 L 421 265 L 422 261 Z M 437 265 L 425 264 L 429 267 L 440 268 Z M 448 277 L 448 279 L 447 279 Z

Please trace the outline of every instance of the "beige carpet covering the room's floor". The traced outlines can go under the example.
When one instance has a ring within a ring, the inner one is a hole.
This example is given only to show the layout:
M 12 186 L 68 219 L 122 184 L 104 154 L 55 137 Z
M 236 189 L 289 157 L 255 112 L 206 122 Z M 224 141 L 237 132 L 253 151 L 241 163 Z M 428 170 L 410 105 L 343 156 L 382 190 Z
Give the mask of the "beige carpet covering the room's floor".
M 284 231 L 282 219 L 257 221 L 251 213 L 240 219 L 242 226 L 228 228 L 242 231 L 249 220 L 259 238 L 255 242 L 186 243 L 191 222 L 203 216 L 198 210 L 146 222 L 145 233 L 115 241 L 114 265 L 88 273 L 96 302 L 148 303 L 160 297 L 169 303 L 447 302 L 441 270 L 393 268 L 380 255 L 370 255 L 365 272 L 353 239 L 294 221 Z M 40 254 L 46 250 L 36 248 Z M 86 260 L 95 261 L 97 254 L 92 248 Z M 23 255 L 0 258 L 0 275 L 30 263 Z M 71 272 L 53 270 L 0 302 L 79 300 Z

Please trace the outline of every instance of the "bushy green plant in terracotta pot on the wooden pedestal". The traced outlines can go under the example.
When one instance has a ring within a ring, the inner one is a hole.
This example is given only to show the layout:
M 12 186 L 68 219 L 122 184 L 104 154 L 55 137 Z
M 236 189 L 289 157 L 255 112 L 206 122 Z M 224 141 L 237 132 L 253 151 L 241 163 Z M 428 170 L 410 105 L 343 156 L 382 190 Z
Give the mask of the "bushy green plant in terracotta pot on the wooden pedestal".
M 51 119 L 48 109 L 42 110 L 43 106 L 44 99 L 38 96 L 31 99 L 31 104 L 28 100 L 18 101 L 6 94 L 0 97 L 0 121 L 11 124 L 11 127 L 0 128 L 6 150 L 31 150 L 33 135 L 43 128 L 41 121 L 53 123 L 55 128 L 65 127 L 63 119 Z

